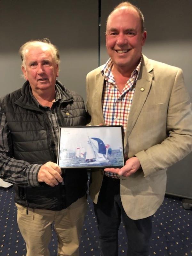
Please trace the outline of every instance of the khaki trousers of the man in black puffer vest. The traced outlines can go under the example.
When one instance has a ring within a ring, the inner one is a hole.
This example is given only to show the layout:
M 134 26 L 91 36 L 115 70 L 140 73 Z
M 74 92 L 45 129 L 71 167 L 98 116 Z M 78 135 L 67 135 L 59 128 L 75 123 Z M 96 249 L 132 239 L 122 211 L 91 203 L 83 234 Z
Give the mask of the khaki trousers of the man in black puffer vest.
M 17 222 L 26 247 L 26 256 L 49 256 L 51 225 L 58 238 L 58 255 L 79 256 L 79 243 L 84 216 L 87 210 L 86 196 L 61 211 L 28 208 L 16 204 Z

